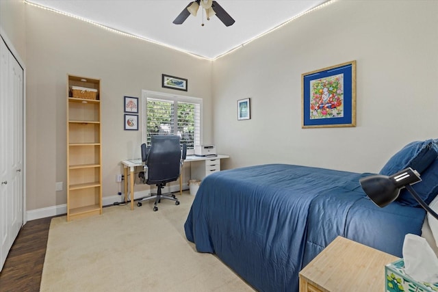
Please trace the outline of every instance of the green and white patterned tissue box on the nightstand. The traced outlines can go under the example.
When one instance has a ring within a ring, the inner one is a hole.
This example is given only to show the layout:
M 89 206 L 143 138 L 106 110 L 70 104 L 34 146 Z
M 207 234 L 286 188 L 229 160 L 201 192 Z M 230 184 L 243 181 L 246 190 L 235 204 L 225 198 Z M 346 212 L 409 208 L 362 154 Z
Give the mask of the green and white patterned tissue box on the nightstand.
M 403 258 L 385 266 L 385 291 L 438 291 L 438 283 L 426 283 L 413 280 L 404 272 Z

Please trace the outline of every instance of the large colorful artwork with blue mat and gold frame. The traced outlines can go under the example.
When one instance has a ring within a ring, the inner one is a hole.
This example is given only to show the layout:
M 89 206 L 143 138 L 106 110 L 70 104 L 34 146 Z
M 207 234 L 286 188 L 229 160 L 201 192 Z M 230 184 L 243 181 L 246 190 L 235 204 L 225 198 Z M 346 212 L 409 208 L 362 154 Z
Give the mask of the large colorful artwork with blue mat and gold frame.
M 356 127 L 356 61 L 301 75 L 302 128 Z

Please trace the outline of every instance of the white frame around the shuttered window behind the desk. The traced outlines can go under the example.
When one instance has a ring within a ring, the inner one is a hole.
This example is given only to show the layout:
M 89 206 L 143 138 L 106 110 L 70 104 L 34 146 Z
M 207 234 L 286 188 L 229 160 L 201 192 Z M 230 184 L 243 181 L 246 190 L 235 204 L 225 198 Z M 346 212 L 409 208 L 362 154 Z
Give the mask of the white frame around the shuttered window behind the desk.
M 199 144 L 203 143 L 203 99 L 192 96 L 183 96 L 179 94 L 168 94 L 164 92 L 154 92 L 150 90 L 142 90 L 142 143 L 146 143 L 147 141 L 147 100 L 148 98 L 156 98 L 161 99 L 163 101 L 172 101 L 175 103 L 196 103 L 199 105 Z M 176 107 L 177 109 L 177 107 Z M 175 111 L 176 114 L 176 111 Z M 188 149 L 187 155 L 194 155 L 194 149 Z

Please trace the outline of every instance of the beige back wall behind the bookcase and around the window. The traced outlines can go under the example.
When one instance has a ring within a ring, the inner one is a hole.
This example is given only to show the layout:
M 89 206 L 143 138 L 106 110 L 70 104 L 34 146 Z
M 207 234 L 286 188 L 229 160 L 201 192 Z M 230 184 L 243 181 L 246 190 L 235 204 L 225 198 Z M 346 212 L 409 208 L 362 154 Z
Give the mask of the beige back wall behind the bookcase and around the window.
M 211 112 L 210 61 L 31 5 L 26 5 L 26 24 L 27 210 L 66 203 L 68 73 L 101 79 L 104 200 L 117 196 L 120 161 L 140 157 L 141 128 L 123 129 L 123 96 L 141 101 L 143 89 L 195 96 L 203 98 L 204 114 Z M 162 73 L 187 78 L 189 91 L 162 88 Z M 211 132 L 206 119 L 205 141 Z M 64 182 L 64 191 L 55 191 L 55 182 Z

